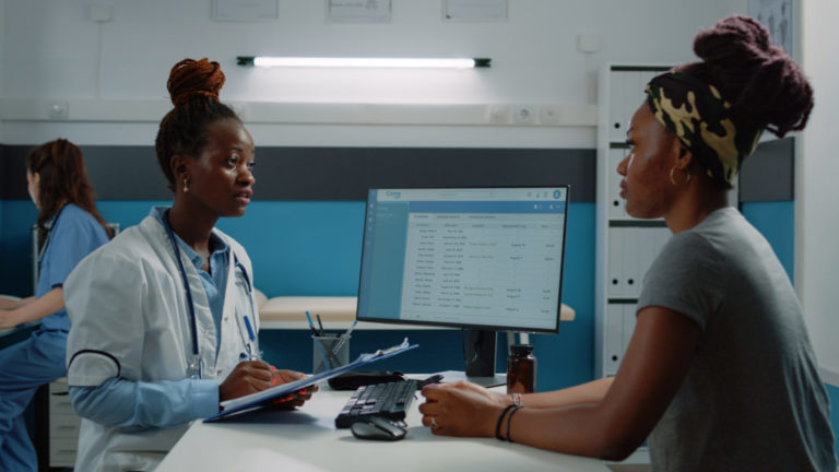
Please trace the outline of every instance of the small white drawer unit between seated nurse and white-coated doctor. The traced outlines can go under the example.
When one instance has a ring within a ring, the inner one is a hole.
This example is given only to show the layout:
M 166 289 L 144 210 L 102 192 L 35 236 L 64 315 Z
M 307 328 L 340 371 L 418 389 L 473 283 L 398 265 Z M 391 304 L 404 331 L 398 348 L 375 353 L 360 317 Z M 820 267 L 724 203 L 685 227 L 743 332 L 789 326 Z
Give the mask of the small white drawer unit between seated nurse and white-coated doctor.
M 67 380 L 58 379 L 49 385 L 49 467 L 71 468 L 75 462 L 79 427 L 76 416 L 67 394 Z

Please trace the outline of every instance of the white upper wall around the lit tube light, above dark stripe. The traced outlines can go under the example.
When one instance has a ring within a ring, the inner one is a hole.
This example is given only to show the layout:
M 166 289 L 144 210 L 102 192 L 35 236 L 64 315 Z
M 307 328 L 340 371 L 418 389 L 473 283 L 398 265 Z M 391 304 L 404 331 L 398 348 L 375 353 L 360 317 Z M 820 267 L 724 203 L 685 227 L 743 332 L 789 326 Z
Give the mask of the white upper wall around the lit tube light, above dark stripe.
M 407 104 L 405 113 L 432 104 L 442 114 L 466 104 L 559 104 L 574 113 L 577 105 L 596 104 L 602 63 L 693 60 L 698 28 L 745 10 L 745 0 L 510 0 L 506 22 L 445 23 L 441 0 L 392 0 L 388 24 L 334 24 L 326 22 L 323 0 L 279 0 L 276 21 L 231 23 L 210 20 L 210 0 L 96 0 L 115 12 L 113 22 L 96 23 L 87 19 L 92 2 L 5 0 L 1 97 L 29 107 L 45 107 L 39 99 L 62 99 L 78 108 L 82 101 L 87 108 L 110 107 L 111 115 L 123 107 L 129 117 L 121 119 L 140 122 L 24 121 L 26 114 L 7 111 L 1 142 L 29 144 L 61 134 L 82 144 L 150 144 L 156 122 L 147 116 L 157 120 L 166 110 L 169 68 L 185 57 L 203 56 L 222 63 L 227 74 L 222 99 L 233 103 Z M 602 49 L 579 52 L 580 34 L 600 37 Z M 489 57 L 493 67 L 404 72 L 235 66 L 236 56 L 257 54 Z M 135 107 L 126 101 L 147 102 L 154 111 L 131 118 Z M 258 145 L 595 144 L 594 127 L 586 119 L 559 127 L 486 126 L 482 119 L 478 114 L 461 126 L 444 126 L 437 118 L 418 126 L 291 119 L 248 128 Z

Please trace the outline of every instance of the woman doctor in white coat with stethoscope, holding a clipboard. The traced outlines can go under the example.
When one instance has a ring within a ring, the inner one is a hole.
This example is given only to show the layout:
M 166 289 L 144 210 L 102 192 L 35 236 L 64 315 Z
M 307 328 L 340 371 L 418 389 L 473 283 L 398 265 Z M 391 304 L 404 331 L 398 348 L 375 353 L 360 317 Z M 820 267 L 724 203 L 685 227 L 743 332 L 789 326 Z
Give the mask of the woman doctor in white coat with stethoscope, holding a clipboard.
M 206 59 L 172 69 L 175 108 L 155 148 L 173 205 L 152 209 L 64 285 L 68 382 L 83 417 L 75 470 L 152 470 L 220 402 L 303 377 L 249 361 L 259 352 L 250 259 L 214 226 L 250 203 L 253 140 L 218 102 L 223 84 Z

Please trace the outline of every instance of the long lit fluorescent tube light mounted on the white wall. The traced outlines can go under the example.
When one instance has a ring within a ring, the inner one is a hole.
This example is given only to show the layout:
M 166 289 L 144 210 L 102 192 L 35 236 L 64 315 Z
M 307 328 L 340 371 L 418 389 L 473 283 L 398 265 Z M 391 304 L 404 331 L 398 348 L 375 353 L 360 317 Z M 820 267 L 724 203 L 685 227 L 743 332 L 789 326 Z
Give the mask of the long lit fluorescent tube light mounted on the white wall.
M 488 68 L 492 59 L 422 59 L 422 58 L 327 58 L 238 56 L 238 66 L 297 68 L 418 68 L 472 69 Z

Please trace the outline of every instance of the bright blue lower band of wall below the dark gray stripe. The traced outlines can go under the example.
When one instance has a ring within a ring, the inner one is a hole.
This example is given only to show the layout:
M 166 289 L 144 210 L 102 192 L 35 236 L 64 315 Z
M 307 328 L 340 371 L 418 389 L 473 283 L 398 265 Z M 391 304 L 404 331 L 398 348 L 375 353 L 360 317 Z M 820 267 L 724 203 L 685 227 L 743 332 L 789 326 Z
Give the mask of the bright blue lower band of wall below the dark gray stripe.
M 155 201 L 102 201 L 103 216 L 125 228 L 139 223 Z M 794 204 L 791 201 L 751 202 L 743 214 L 769 240 L 790 279 L 793 273 Z M 537 357 L 539 390 L 551 390 L 591 380 L 594 351 L 594 203 L 571 203 L 568 211 L 563 302 L 577 311 L 555 335 L 531 337 Z M 237 220 L 218 227 L 239 240 L 253 261 L 257 287 L 269 296 L 354 296 L 361 260 L 363 202 L 256 201 Z M 26 200 L 0 201 L 0 287 L 15 295 L 31 294 L 28 228 L 37 210 Z M 453 330 L 356 331 L 351 355 L 371 346 L 390 345 L 410 335 L 421 344 L 376 368 L 403 371 L 463 369 L 460 333 Z M 501 343 L 504 339 L 500 339 Z M 268 361 L 300 370 L 311 369 L 311 341 L 306 331 L 265 330 L 260 342 Z M 505 353 L 498 352 L 498 366 Z M 828 386 L 839 405 L 839 388 Z M 839 430 L 839 409 L 831 413 Z M 839 453 L 839 449 L 837 450 Z

